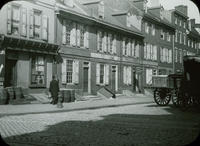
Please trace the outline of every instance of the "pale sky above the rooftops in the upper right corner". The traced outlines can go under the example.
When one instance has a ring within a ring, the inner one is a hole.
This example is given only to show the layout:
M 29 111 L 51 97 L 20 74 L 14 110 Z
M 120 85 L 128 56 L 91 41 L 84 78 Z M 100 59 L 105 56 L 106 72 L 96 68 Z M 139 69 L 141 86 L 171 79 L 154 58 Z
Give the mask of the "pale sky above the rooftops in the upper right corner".
M 148 0 L 150 5 L 150 1 Z M 174 9 L 174 6 L 186 5 L 188 6 L 188 17 L 189 19 L 196 19 L 196 23 L 200 23 L 200 14 L 198 7 L 191 0 L 160 0 L 160 4 L 164 9 Z

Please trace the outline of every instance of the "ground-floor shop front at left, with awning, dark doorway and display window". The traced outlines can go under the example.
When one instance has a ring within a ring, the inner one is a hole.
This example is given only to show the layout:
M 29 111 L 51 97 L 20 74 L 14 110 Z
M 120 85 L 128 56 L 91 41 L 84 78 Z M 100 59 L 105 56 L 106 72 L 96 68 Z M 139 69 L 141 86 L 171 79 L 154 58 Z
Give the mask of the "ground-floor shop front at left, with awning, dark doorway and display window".
M 5 37 L 4 87 L 48 88 L 56 74 L 58 45 L 35 40 Z

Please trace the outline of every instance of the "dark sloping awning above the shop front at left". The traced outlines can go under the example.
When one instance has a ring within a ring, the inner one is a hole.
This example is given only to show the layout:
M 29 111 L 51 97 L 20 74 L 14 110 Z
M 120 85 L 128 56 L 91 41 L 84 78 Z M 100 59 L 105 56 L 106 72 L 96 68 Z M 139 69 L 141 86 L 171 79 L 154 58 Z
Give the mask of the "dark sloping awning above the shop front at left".
M 5 36 L 2 47 L 9 50 L 33 52 L 57 55 L 59 45 L 43 42 L 40 40 L 30 40 L 25 38 Z

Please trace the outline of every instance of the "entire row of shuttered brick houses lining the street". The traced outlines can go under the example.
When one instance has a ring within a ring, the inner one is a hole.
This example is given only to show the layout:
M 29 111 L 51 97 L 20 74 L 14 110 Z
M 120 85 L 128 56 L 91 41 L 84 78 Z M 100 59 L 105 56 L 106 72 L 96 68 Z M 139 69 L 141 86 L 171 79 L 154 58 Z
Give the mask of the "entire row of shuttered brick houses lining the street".
M 144 93 L 152 75 L 181 71 L 183 55 L 199 49 L 187 7 L 164 10 L 159 1 L 14 1 L 0 16 L 4 87 L 43 92 L 57 75 L 80 95 Z

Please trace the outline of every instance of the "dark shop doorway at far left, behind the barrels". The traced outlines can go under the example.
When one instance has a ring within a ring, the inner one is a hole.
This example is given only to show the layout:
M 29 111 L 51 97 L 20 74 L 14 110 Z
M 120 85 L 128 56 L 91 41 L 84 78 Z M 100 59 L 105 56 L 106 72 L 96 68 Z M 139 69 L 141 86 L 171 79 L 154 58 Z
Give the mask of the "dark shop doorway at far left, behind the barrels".
M 17 85 L 16 60 L 7 59 L 5 69 L 5 87 Z

